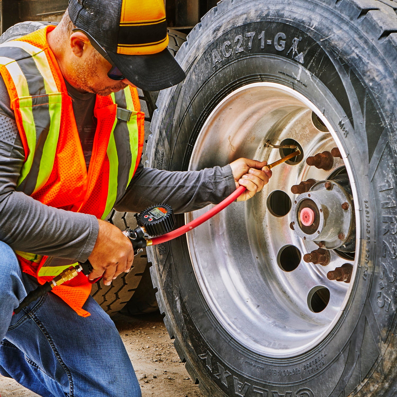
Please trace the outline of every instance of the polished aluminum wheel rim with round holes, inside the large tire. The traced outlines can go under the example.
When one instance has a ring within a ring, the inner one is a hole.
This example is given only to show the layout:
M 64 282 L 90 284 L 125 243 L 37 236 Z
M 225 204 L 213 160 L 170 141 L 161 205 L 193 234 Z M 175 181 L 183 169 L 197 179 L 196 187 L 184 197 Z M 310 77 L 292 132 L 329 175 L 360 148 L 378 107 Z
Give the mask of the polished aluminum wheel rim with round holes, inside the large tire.
M 316 113 L 329 133 L 319 131 L 311 121 Z M 295 139 L 304 159 L 337 146 L 343 159 L 336 159 L 330 171 L 306 165 L 283 164 L 273 169 L 273 177 L 262 192 L 247 202 L 236 202 L 216 217 L 187 234 L 193 269 L 212 314 L 241 345 L 268 357 L 293 357 L 320 343 L 343 314 L 354 285 L 355 260 L 331 252 L 328 266 L 301 261 L 291 272 L 279 264 L 283 247 L 293 245 L 301 256 L 318 246 L 304 241 L 290 229 L 291 211 L 275 216 L 268 209 L 268 197 L 275 190 L 297 195 L 291 186 L 303 180 L 327 179 L 338 167 L 345 166 L 353 197 L 357 202 L 353 173 L 337 134 L 321 112 L 305 98 L 281 84 L 254 83 L 225 97 L 204 123 L 189 164 L 200 170 L 227 164 L 239 157 L 280 158 L 279 151 L 264 147 L 270 139 L 279 144 Z M 208 208 L 185 215 L 186 222 Z M 357 211 L 356 211 L 357 212 Z M 356 229 L 359 217 L 356 216 Z M 358 252 L 358 241 L 356 252 Z M 344 263 L 353 265 L 349 284 L 329 281 L 329 270 Z M 310 296 L 321 287 L 330 291 L 330 301 L 319 313 L 310 310 Z

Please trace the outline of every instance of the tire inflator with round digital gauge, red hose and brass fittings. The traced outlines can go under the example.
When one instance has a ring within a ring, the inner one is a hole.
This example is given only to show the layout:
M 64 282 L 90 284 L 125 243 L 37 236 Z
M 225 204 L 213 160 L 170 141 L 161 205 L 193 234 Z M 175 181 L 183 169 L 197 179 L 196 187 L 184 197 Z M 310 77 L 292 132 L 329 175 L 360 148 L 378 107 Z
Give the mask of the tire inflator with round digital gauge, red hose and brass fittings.
M 269 145 L 269 147 L 273 146 L 275 146 L 276 148 L 280 147 L 276 145 Z M 285 148 L 296 149 L 296 146 L 294 145 L 285 146 L 287 146 Z M 278 164 L 281 164 L 295 156 L 298 156 L 300 153 L 301 152 L 298 149 L 288 156 L 285 156 L 280 160 L 269 164 L 267 167 L 273 168 Z M 244 193 L 245 189 L 246 188 L 244 186 L 239 186 L 230 196 L 226 197 L 222 202 L 211 208 L 208 212 L 202 214 L 195 220 L 179 227 L 176 230 L 172 230 L 175 227 L 175 216 L 173 214 L 172 208 L 169 205 L 158 204 L 156 206 L 146 208 L 146 210 L 138 214 L 136 217 L 138 227 L 133 230 L 124 230 L 123 234 L 127 236 L 131 241 L 135 256 L 139 252 L 143 251 L 143 249 L 147 246 L 157 245 L 175 239 L 176 237 L 179 237 L 187 233 L 189 230 L 192 230 L 198 225 L 206 222 L 208 219 L 212 218 L 214 215 L 218 214 L 218 212 L 226 208 L 233 201 L 237 200 L 237 198 Z M 64 282 L 75 278 L 80 272 L 83 272 L 83 274 L 88 276 L 92 271 L 93 267 L 88 260 L 84 263 L 79 263 L 76 266 L 70 266 L 68 269 L 58 274 L 58 276 L 55 276 L 51 281 L 47 281 L 43 285 L 37 287 L 35 290 L 29 292 L 25 299 L 23 299 L 19 306 L 14 310 L 14 314 L 19 313 L 28 304 L 36 301 L 47 292 L 50 292 L 57 285 L 61 285 Z M 93 280 L 92 282 L 94 283 L 100 278 Z

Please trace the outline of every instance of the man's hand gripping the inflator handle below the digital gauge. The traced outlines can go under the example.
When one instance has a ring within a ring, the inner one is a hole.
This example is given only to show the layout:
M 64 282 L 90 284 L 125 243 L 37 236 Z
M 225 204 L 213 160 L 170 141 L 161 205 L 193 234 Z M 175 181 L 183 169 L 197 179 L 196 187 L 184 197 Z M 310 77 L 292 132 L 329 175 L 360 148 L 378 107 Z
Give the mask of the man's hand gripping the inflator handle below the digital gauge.
M 102 276 L 103 283 L 110 285 L 122 272 L 129 272 L 134 260 L 134 250 L 128 237 L 109 222 L 98 219 L 99 232 L 93 252 L 88 257 L 94 270 L 89 274 L 93 280 Z

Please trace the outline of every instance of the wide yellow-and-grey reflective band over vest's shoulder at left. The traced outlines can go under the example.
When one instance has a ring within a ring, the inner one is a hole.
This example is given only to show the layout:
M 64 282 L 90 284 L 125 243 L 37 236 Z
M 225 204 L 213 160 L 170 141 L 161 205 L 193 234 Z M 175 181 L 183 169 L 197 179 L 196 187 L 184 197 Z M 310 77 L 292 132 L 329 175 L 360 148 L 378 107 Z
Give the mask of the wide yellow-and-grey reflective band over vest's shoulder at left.
M 0 64 L 10 73 L 17 90 L 29 147 L 29 154 L 17 181 L 18 190 L 31 195 L 46 183 L 54 164 L 62 94 L 58 92 L 46 54 L 40 48 L 27 42 L 12 41 L 0 44 L 0 54 Z M 44 161 L 43 152 L 46 153 Z M 27 181 L 32 169 L 35 175 L 30 175 Z

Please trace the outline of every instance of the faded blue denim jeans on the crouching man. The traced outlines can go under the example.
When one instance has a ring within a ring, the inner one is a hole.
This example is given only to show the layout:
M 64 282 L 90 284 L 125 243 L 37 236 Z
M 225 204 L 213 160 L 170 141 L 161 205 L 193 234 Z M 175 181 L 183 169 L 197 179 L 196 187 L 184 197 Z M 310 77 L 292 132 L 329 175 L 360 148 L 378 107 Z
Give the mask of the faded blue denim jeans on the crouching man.
M 91 297 L 85 318 L 52 293 L 12 315 L 37 285 L 0 241 L 0 374 L 43 397 L 141 397 L 120 335 Z

